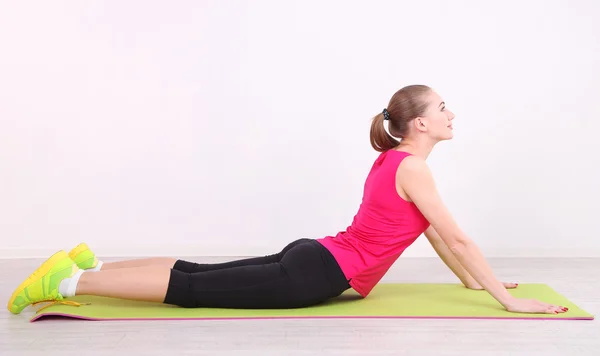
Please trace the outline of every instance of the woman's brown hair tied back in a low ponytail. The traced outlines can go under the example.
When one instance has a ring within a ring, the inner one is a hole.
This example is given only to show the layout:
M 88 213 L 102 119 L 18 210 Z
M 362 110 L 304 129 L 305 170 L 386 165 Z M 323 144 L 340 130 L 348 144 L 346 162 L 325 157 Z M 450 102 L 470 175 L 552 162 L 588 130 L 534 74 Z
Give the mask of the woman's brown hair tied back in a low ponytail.
M 386 109 L 392 136 L 403 138 L 408 134 L 408 124 L 427 110 L 428 103 L 424 97 L 430 90 L 426 85 L 409 85 L 392 96 Z M 386 132 L 383 126 L 385 116 L 382 112 L 371 123 L 371 146 L 378 152 L 390 150 L 400 143 Z

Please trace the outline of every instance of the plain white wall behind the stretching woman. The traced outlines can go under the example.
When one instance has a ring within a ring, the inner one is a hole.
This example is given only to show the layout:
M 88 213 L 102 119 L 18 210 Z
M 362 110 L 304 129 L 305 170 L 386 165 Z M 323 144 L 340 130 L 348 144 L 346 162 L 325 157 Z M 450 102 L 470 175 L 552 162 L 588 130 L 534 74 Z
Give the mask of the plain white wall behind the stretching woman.
M 2 2 L 0 257 L 335 234 L 377 155 L 371 117 L 413 83 L 457 114 L 430 165 L 488 256 L 600 256 L 598 17 L 591 0 Z

